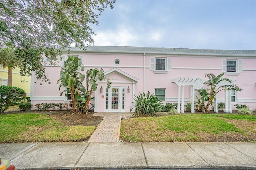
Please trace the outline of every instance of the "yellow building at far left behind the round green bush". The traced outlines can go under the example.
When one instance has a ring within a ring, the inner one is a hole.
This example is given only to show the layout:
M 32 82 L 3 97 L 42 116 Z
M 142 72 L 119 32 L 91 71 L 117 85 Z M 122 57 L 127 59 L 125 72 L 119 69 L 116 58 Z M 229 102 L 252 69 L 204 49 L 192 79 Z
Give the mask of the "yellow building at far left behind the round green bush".
M 12 69 L 12 86 L 23 89 L 24 91 L 26 91 L 27 96 L 30 96 L 31 78 L 30 76 L 22 77 L 19 72 L 20 72 L 19 68 Z M 7 79 L 8 79 L 8 67 L 3 68 L 2 65 L 0 65 L 1 85 L 7 85 Z M 22 80 L 25 80 L 25 81 L 21 82 Z

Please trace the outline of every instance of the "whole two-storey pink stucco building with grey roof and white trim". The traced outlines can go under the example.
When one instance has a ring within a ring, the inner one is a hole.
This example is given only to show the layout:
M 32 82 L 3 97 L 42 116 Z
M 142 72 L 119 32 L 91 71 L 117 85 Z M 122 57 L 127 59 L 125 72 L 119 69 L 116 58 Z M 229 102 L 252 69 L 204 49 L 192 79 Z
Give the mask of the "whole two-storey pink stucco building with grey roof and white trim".
M 98 83 L 94 93 L 95 112 L 130 112 L 134 95 L 144 91 L 155 93 L 163 103 L 178 103 L 184 112 L 184 104 L 194 103 L 198 89 L 206 87 L 206 73 L 232 79 L 242 88 L 241 92 L 222 91 L 217 102 L 226 102 L 225 112 L 236 110 L 235 104 L 246 104 L 256 110 L 256 51 L 255 50 L 211 50 L 152 47 L 91 46 L 87 51 L 76 47 L 64 51 L 62 57 L 78 55 L 86 67 L 102 68 L 112 82 Z M 47 59 L 46 59 L 47 61 Z M 69 103 L 65 95 L 60 96 L 57 80 L 61 64 L 47 65 L 46 71 L 51 84 L 35 84 L 31 80 L 31 102 Z M 102 90 L 101 90 L 102 87 Z M 192 105 L 191 112 L 194 108 Z M 215 108 L 216 111 L 216 108 Z

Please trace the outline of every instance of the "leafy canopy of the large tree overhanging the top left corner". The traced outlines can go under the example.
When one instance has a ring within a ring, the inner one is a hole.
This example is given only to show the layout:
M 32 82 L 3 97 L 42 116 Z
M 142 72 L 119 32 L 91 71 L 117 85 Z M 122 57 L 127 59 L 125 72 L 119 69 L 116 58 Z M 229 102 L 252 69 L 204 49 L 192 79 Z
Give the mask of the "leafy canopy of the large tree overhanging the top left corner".
M 85 49 L 95 35 L 98 16 L 115 0 L 1 0 L 0 47 L 12 42 L 19 49 L 22 75 L 35 71 L 49 81 L 42 66 L 42 54 L 56 63 L 57 55 L 74 44 Z

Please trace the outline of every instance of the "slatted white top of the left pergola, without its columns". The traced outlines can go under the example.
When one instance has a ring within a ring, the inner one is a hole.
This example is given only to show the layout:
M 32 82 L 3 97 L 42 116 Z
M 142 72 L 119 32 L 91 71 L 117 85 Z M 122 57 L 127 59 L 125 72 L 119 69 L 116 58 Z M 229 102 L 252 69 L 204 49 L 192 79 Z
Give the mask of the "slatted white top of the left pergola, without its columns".
M 176 85 L 194 85 L 197 90 L 204 87 L 204 81 L 199 77 L 177 77 L 172 79 L 172 83 L 176 83 Z

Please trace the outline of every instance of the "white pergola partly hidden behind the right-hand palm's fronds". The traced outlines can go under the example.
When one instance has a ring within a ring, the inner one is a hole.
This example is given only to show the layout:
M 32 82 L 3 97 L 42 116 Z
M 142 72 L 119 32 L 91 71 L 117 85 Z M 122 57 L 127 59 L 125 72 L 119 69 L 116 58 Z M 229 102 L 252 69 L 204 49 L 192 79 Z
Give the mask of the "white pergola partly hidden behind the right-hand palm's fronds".
M 222 81 L 220 84 L 218 84 L 218 86 L 222 86 L 222 85 L 233 85 L 234 81 L 236 81 L 236 79 L 230 79 L 231 83 L 228 81 Z M 216 86 L 216 88 L 218 88 L 218 86 Z M 232 113 L 232 108 L 231 108 L 231 90 L 224 90 L 225 91 L 225 97 L 224 97 L 224 103 L 225 103 L 225 107 L 224 107 L 224 112 L 225 113 Z M 215 101 L 214 101 L 214 112 L 218 113 L 218 93 L 215 95 Z

